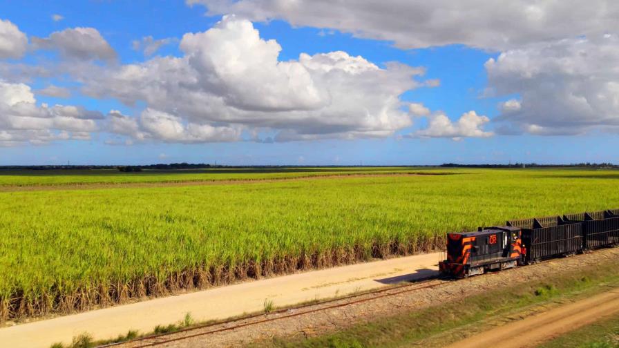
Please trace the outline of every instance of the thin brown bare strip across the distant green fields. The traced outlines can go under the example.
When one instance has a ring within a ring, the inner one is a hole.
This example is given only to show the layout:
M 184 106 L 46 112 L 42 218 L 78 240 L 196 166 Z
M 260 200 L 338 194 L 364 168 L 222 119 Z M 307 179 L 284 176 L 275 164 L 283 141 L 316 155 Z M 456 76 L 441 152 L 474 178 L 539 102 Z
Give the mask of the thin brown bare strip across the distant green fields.
M 120 182 L 120 183 L 72 183 L 72 184 L 42 184 L 42 185 L 0 185 L 0 192 L 20 191 L 59 191 L 59 190 L 93 190 L 93 189 L 131 189 L 150 187 L 175 186 L 209 186 L 230 184 L 260 184 L 267 182 L 289 182 L 298 180 L 350 179 L 354 177 L 406 177 L 421 175 L 453 175 L 452 173 L 383 173 L 383 174 L 336 174 L 308 175 L 298 177 L 278 177 L 272 179 L 238 179 L 238 180 L 189 180 L 173 182 Z

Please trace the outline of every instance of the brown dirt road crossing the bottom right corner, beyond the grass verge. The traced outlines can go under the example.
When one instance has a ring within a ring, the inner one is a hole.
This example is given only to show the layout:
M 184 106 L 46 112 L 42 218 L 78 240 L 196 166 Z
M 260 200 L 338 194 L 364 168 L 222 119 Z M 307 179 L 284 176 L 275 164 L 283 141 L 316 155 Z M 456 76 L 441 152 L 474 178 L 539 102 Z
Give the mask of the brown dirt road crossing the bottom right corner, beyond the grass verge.
M 517 322 L 510 322 L 455 342 L 449 348 L 535 347 L 540 342 L 589 325 L 614 313 L 619 313 L 619 290 L 601 293 Z

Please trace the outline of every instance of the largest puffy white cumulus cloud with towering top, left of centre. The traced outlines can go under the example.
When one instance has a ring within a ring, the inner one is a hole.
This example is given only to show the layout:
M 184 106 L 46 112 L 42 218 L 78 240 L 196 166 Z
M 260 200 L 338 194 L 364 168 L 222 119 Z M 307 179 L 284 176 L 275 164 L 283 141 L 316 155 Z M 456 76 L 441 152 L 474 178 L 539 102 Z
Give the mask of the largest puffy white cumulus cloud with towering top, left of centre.
M 84 93 L 144 101 L 140 131 L 166 142 L 233 141 L 270 129 L 278 141 L 385 137 L 412 124 L 399 96 L 423 85 L 422 68 L 384 68 L 346 52 L 280 61 L 275 40 L 227 16 L 186 34 L 182 57 L 155 57 L 83 77 Z M 218 133 L 220 133 L 218 135 Z

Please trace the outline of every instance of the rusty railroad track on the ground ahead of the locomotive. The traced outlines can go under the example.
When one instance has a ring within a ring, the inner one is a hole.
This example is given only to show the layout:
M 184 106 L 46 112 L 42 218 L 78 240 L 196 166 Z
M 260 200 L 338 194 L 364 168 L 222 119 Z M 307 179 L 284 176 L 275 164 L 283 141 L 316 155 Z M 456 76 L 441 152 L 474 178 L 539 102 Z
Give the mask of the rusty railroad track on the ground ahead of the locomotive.
M 153 334 L 153 335 L 144 336 L 141 338 L 135 338 L 133 340 L 128 340 L 126 342 L 111 343 L 111 344 L 103 345 L 100 347 L 101 348 L 118 347 L 121 345 L 123 346 L 126 345 L 131 348 L 155 347 L 158 345 L 165 345 L 166 343 L 186 340 L 187 338 L 194 338 L 198 336 L 208 336 L 211 334 L 217 334 L 217 333 L 224 332 L 224 331 L 233 331 L 235 329 L 240 329 L 242 327 L 249 327 L 251 325 L 259 325 L 265 322 L 273 322 L 276 320 L 285 320 L 287 318 L 293 318 L 296 316 L 304 316 L 306 314 L 314 313 L 318 311 L 325 311 L 328 309 L 346 307 L 350 305 L 355 305 L 357 303 L 377 300 L 379 298 L 397 296 L 401 293 L 408 293 L 408 292 L 417 291 L 420 289 L 438 287 L 441 284 L 445 284 L 446 282 L 451 282 L 451 281 L 453 281 L 453 278 L 444 277 L 444 276 L 436 276 L 436 277 L 426 278 L 424 280 L 419 280 L 416 282 L 411 282 L 408 284 L 399 284 L 399 285 L 395 285 L 392 287 L 386 287 L 386 288 L 372 290 L 372 291 L 364 291 L 363 293 L 355 293 L 353 295 L 344 296 L 341 298 L 334 298 L 332 300 L 324 300 L 321 302 L 312 302 L 307 305 L 299 305 L 299 306 L 289 307 L 285 309 L 278 309 L 276 311 L 272 311 L 269 313 L 260 313 L 260 314 L 255 314 L 253 316 L 243 317 L 243 318 L 235 318 L 231 320 L 225 320 L 222 322 L 198 325 L 198 326 L 189 327 L 187 329 L 181 329 L 179 331 L 174 331 L 174 332 L 166 333 L 166 334 Z M 170 337 L 170 336 L 178 336 L 178 337 Z

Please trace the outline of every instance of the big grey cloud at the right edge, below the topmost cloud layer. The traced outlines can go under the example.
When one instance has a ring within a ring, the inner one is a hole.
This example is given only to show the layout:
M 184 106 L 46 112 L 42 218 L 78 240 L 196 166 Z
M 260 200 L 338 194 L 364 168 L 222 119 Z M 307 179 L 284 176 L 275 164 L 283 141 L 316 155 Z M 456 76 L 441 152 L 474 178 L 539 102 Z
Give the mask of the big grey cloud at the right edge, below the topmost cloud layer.
M 619 126 L 616 35 L 535 43 L 486 62 L 501 105 L 502 133 L 573 135 Z

